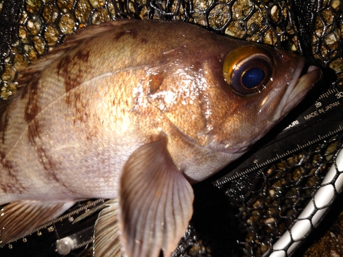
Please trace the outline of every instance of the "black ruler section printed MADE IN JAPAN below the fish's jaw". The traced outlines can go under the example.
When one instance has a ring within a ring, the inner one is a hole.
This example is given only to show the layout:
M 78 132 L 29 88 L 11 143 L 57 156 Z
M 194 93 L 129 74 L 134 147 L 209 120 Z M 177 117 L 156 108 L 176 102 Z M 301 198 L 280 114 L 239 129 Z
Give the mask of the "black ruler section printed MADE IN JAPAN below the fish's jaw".
M 322 93 L 318 99 L 300 114 L 292 123 L 281 127 L 281 132 L 272 140 L 270 134 L 265 136 L 264 145 L 253 147 L 251 151 L 224 169 L 225 175 L 215 178 L 212 184 L 222 188 L 224 184 L 236 180 L 292 155 L 305 147 L 314 145 L 343 131 L 343 88 L 335 88 Z M 277 127 L 276 130 L 280 130 Z M 267 141 L 267 142 L 266 142 Z

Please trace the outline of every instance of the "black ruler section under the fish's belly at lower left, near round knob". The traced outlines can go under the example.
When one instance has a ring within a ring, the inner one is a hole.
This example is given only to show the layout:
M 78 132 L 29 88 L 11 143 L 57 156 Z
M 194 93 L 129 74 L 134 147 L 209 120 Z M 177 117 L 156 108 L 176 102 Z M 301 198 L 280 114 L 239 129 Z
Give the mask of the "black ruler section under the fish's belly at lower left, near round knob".
M 86 249 L 93 243 L 94 223 L 97 215 L 93 215 L 73 224 L 76 217 L 104 203 L 104 199 L 82 202 L 74 206 L 67 214 L 54 219 L 32 230 L 27 236 L 0 245 L 0 256 L 66 256 L 75 249 Z

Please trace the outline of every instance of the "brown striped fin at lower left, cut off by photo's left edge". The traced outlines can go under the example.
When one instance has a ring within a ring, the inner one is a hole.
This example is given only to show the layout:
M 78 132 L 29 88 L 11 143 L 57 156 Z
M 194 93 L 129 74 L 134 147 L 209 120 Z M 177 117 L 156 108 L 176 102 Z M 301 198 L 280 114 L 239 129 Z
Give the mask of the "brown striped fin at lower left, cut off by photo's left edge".
M 0 210 L 0 244 L 25 236 L 34 228 L 62 215 L 75 204 L 49 201 L 15 201 Z

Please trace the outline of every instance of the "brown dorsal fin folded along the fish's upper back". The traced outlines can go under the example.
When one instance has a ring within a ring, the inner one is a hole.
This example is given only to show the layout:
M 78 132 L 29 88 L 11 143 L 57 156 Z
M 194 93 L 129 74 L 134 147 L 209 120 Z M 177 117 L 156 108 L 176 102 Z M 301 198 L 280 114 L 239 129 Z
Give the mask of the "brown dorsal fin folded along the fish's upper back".
M 75 33 L 64 40 L 64 42 L 56 47 L 54 50 L 47 53 L 43 58 L 34 62 L 34 64 L 29 65 L 26 69 L 19 73 L 18 82 L 18 89 L 23 88 L 26 84 L 32 80 L 33 77 L 36 77 L 41 71 L 43 71 L 47 66 L 54 62 L 54 60 L 60 58 L 64 53 L 70 51 L 71 49 L 78 47 L 80 43 L 89 38 L 93 38 L 97 36 L 97 34 L 101 34 L 107 32 L 114 27 L 119 25 L 123 25 L 126 23 L 132 23 L 130 20 L 119 20 L 119 21 L 110 21 L 108 23 L 102 23 L 100 25 L 91 25 L 89 27 L 84 27 L 82 29 L 78 29 Z

